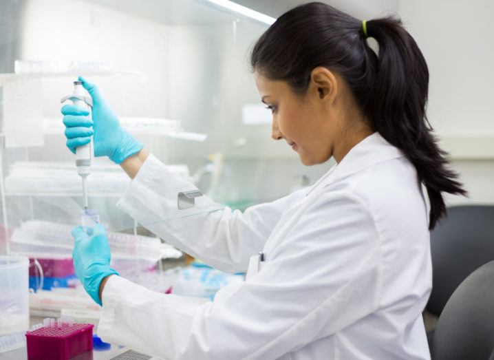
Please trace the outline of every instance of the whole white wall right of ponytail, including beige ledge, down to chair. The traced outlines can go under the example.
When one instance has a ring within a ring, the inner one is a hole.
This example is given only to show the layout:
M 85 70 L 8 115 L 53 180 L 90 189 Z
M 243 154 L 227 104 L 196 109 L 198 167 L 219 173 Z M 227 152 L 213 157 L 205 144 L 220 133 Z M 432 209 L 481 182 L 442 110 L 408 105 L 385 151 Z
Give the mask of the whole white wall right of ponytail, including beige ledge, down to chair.
M 399 14 L 429 65 L 429 120 L 470 193 L 449 204 L 494 204 L 494 1 L 401 0 Z

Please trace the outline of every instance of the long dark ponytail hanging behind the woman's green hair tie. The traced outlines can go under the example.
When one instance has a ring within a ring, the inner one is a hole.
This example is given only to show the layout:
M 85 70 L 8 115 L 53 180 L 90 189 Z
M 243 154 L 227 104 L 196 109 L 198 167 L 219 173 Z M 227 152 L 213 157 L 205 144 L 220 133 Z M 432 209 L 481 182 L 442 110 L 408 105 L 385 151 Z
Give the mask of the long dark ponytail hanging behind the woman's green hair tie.
M 405 153 L 416 167 L 429 195 L 429 229 L 433 229 L 446 213 L 442 192 L 466 195 L 466 191 L 455 180 L 457 174 L 447 167 L 447 153 L 438 147 L 425 114 L 429 87 L 427 64 L 399 19 L 367 21 L 367 34 L 376 39 L 379 55 L 365 113 L 374 129 Z

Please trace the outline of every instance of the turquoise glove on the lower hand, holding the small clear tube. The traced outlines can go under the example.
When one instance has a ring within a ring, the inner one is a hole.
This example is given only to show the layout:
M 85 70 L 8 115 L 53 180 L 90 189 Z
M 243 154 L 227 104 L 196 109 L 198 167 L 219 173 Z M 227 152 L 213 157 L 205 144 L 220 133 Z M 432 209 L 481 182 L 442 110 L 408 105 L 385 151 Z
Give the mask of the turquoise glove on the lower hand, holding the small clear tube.
M 85 229 L 88 229 L 91 235 L 88 235 Z M 94 229 L 77 226 L 72 230 L 72 237 L 76 240 L 72 250 L 76 275 L 87 293 L 101 305 L 101 281 L 108 275 L 118 275 L 110 268 L 110 246 L 105 228 L 101 224 L 96 224 Z

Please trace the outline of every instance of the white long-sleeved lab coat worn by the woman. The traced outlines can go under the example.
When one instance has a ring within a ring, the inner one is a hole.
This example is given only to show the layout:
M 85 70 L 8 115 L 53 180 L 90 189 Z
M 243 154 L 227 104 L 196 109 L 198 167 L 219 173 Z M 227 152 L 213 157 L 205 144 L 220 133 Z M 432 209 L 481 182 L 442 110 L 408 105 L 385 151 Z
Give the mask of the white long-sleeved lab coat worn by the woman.
M 176 206 L 176 193 L 163 194 L 182 182 L 149 156 L 118 206 L 248 279 L 195 304 L 112 276 L 98 328 L 105 341 L 164 359 L 430 358 L 421 317 L 431 290 L 428 200 L 414 167 L 379 134 L 286 198 L 150 221 Z

